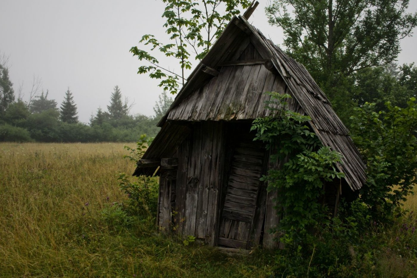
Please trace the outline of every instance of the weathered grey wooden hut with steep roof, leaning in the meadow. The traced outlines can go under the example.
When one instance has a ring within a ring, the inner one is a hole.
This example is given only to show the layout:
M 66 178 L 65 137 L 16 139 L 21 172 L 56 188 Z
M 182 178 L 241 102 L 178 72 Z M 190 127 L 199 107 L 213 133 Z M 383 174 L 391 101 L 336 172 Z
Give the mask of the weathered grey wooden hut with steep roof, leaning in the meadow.
M 323 145 L 342 153 L 346 178 L 327 185 L 326 202 L 361 188 L 365 165 L 326 95 L 303 65 L 285 55 L 248 23 L 252 10 L 234 17 L 193 70 L 133 175 L 159 175 L 157 224 L 210 245 L 273 248 L 267 231 L 280 216 L 259 181 L 269 165 L 251 121 L 270 113 L 266 91 L 288 93 L 289 108 L 311 117 Z

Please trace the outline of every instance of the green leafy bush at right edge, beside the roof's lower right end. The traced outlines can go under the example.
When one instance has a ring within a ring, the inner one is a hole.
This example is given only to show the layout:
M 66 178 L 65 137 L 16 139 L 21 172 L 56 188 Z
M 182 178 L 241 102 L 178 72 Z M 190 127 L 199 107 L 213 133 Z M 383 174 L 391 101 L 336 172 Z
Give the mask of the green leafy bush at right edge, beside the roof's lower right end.
M 367 163 L 368 181 L 361 199 L 376 219 L 391 218 L 412 192 L 417 170 L 417 102 L 406 108 L 386 103 L 386 111 L 375 112 L 374 103 L 356 108 L 352 116 L 352 138 Z

